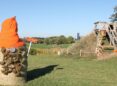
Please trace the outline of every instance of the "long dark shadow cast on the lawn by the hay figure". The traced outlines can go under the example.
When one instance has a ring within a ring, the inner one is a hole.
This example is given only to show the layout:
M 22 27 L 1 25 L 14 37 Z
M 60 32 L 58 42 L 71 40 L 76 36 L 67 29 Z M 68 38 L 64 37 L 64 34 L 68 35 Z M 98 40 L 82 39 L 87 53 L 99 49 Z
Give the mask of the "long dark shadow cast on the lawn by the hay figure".
M 44 68 L 37 68 L 37 69 L 28 71 L 27 81 L 31 81 L 41 76 L 44 76 L 48 73 L 51 73 L 54 70 L 54 68 L 57 66 L 58 65 L 49 65 Z

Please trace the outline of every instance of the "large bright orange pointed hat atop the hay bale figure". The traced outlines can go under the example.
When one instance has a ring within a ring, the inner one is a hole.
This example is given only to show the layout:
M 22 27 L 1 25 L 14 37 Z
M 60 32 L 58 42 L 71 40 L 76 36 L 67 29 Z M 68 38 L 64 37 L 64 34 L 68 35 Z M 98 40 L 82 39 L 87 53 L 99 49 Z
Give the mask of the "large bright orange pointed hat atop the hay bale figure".
M 0 32 L 0 47 L 17 48 L 24 46 L 24 42 L 19 39 L 17 31 L 18 28 L 15 17 L 3 21 L 2 30 Z

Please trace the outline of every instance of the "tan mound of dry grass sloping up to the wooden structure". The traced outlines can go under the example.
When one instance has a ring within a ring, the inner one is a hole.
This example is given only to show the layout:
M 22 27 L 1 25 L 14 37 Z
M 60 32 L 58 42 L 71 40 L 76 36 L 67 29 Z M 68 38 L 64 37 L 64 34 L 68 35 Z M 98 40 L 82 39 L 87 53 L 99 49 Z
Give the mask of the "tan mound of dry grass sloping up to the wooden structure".
M 95 52 L 96 48 L 96 36 L 92 32 L 85 37 L 82 37 L 79 41 L 74 43 L 72 46 L 68 48 L 68 52 L 70 54 L 79 54 L 80 50 L 86 52 Z

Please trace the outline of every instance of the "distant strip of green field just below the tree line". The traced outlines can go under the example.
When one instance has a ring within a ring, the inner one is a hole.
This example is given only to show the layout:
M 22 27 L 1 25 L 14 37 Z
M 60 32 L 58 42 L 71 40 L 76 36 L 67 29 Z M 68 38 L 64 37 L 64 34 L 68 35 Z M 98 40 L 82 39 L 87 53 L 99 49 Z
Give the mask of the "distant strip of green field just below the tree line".
M 67 48 L 69 47 L 71 44 L 61 44 L 61 45 L 54 45 L 54 44 L 32 44 L 32 48 L 56 48 L 56 47 L 60 47 L 60 48 Z M 27 46 L 29 46 L 29 43 L 27 43 Z

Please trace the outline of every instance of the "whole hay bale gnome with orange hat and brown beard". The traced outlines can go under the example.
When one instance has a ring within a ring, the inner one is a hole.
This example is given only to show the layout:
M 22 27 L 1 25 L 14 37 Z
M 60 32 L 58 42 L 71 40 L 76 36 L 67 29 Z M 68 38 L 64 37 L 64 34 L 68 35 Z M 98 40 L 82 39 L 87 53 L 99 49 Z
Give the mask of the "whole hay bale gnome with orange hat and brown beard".
M 27 77 L 27 48 L 18 36 L 16 17 L 6 19 L 0 32 L 0 85 L 23 86 Z

